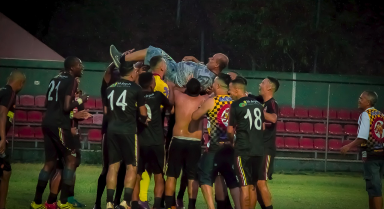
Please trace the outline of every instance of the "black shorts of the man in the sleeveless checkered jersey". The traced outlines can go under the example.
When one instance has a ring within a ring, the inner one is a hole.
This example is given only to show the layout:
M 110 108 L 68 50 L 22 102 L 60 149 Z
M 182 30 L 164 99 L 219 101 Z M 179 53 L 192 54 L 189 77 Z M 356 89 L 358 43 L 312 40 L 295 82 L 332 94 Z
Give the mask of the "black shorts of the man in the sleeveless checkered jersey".
M 220 173 L 229 189 L 238 187 L 233 159 L 234 150 L 230 145 L 222 145 L 215 152 L 204 152 L 198 166 L 199 184 L 212 187 Z

